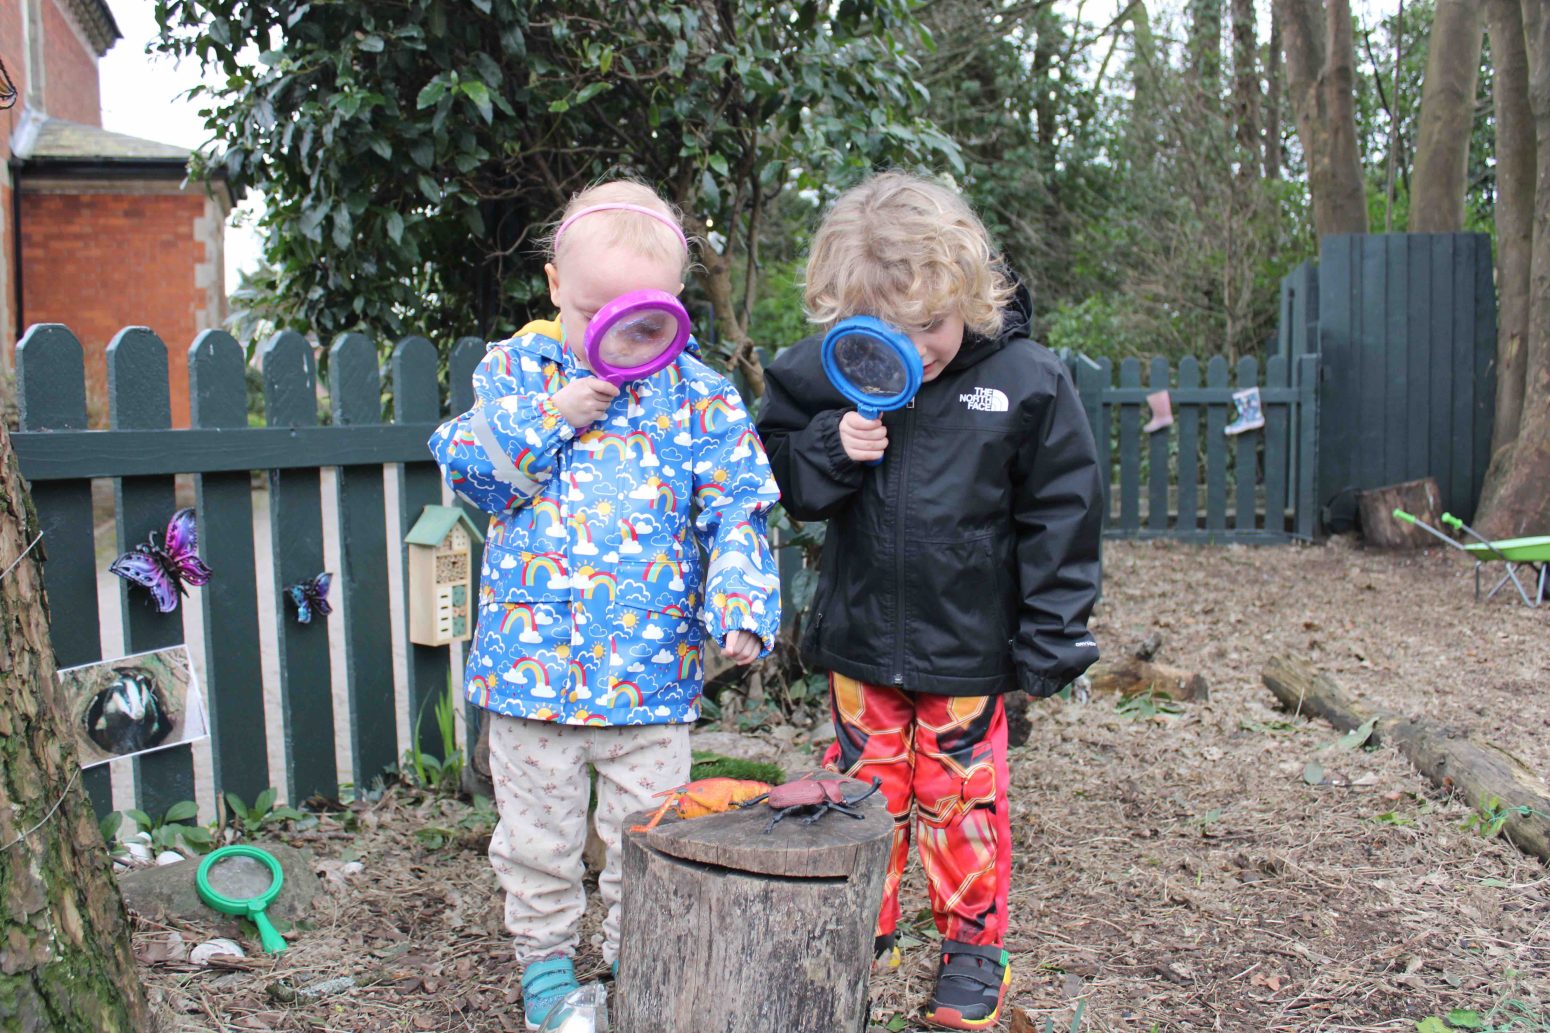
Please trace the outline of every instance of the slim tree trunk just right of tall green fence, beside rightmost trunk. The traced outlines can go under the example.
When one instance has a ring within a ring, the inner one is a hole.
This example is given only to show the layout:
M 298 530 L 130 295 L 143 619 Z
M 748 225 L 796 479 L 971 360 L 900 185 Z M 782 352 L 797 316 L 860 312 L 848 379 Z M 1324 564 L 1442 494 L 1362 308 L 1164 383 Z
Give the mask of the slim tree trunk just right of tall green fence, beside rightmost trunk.
M 1517 439 L 1524 414 L 1528 273 L 1534 223 L 1534 123 L 1521 0 L 1486 0 L 1496 102 L 1496 420 L 1485 495 L 1500 479 L 1497 456 Z

